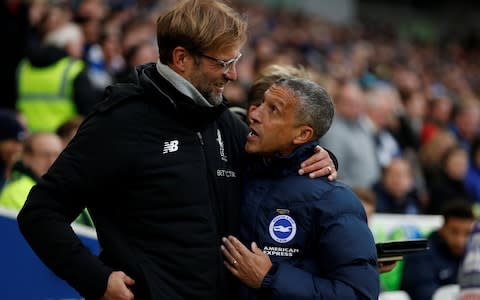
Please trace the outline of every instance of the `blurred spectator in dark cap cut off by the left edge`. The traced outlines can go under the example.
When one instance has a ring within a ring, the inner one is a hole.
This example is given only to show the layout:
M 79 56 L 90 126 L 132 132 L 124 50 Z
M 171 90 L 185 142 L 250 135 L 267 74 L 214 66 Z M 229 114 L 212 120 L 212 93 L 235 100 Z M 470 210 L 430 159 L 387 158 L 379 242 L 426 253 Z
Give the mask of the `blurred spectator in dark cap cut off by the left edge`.
M 20 158 L 26 131 L 16 113 L 0 110 L 0 191 Z

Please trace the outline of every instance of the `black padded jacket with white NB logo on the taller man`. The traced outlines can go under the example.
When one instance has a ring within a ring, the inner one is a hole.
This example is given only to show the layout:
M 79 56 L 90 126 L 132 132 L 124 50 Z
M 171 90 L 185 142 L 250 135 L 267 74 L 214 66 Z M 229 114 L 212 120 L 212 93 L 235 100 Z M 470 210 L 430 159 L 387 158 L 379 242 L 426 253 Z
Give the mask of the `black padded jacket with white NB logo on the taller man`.
M 199 107 L 156 71 L 107 90 L 18 216 L 39 257 L 86 298 L 112 270 L 135 299 L 232 299 L 221 237 L 237 233 L 246 127 Z M 86 206 L 100 259 L 69 227 Z M 232 280 L 233 282 L 233 280 Z

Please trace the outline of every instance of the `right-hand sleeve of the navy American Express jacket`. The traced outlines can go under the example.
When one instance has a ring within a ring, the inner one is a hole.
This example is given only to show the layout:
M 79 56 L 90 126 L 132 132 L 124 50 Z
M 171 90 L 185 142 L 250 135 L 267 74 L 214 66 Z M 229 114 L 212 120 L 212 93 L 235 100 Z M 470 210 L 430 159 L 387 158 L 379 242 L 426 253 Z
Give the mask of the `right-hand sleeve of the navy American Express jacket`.
M 345 212 L 342 190 L 328 196 L 336 211 L 317 216 L 315 274 L 280 262 L 262 282 L 274 299 L 378 299 L 376 248 L 361 207 Z M 353 196 L 352 196 L 353 197 Z M 358 201 L 358 200 L 357 200 Z M 322 202 L 323 205 L 324 202 Z

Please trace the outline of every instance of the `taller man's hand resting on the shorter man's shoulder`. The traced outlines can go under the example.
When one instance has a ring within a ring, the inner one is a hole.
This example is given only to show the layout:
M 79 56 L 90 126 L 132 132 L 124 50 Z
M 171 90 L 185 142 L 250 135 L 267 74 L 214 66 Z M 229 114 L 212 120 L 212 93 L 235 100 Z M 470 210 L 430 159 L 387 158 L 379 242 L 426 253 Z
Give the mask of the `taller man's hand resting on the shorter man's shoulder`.
M 315 154 L 305 160 L 298 174 L 308 174 L 310 178 L 328 175 L 329 180 L 337 178 L 337 170 L 328 152 L 320 146 L 315 147 Z

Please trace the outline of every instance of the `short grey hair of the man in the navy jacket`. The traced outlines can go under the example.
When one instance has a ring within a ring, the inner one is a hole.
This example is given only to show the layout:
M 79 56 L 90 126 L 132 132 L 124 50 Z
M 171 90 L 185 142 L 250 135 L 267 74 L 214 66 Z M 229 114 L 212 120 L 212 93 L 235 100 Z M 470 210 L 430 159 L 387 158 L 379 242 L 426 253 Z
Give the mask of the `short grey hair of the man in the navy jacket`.
M 275 85 L 288 89 L 299 101 L 297 122 L 313 129 L 313 139 L 321 138 L 332 125 L 335 108 L 332 97 L 319 84 L 305 78 L 286 77 Z

